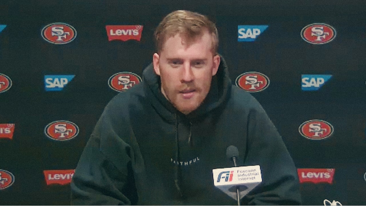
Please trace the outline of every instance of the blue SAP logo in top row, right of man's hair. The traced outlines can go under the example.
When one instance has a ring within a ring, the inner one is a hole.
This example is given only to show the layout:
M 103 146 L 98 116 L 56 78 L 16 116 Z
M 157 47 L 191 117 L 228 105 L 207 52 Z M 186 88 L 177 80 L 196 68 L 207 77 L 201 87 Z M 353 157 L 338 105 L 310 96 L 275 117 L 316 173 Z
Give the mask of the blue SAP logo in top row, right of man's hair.
M 238 41 L 255 41 L 268 25 L 238 25 Z

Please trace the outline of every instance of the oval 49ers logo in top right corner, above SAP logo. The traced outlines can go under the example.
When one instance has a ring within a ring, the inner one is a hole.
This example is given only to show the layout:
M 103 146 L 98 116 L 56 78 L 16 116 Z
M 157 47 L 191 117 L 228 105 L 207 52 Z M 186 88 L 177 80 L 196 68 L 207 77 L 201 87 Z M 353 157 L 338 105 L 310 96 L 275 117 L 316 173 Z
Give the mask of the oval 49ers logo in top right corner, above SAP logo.
M 301 30 L 301 37 L 310 44 L 325 44 L 336 37 L 336 30 L 325 23 L 313 23 Z

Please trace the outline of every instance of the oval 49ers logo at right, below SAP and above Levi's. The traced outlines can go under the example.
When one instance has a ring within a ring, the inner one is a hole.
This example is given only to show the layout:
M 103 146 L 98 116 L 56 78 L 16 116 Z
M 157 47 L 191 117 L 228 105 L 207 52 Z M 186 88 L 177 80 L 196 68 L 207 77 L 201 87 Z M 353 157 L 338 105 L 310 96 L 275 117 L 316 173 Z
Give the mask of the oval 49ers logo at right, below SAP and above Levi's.
M 299 132 L 308 139 L 325 139 L 333 134 L 333 126 L 329 122 L 312 119 L 299 126 Z

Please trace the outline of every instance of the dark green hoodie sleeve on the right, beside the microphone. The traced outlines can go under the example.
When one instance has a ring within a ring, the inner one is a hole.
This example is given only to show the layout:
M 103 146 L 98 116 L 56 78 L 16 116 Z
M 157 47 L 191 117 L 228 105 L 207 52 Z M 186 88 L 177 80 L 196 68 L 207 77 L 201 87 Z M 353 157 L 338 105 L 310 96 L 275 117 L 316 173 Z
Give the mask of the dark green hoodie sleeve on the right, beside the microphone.
M 259 165 L 262 183 L 243 198 L 244 204 L 300 205 L 295 164 L 277 129 L 261 106 L 250 111 L 247 126 L 244 165 Z

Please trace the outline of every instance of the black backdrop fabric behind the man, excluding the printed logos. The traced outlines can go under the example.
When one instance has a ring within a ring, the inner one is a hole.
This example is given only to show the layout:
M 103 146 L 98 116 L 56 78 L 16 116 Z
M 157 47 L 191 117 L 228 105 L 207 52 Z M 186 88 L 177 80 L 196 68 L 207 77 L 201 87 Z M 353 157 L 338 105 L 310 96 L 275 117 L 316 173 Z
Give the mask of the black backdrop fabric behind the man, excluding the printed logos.
M 248 71 L 269 78 L 268 88 L 252 94 L 276 125 L 296 167 L 335 169 L 331 184 L 301 184 L 303 204 L 323 205 L 328 199 L 365 205 L 363 0 L 0 1 L 0 25 L 6 25 L 0 32 L 0 73 L 12 81 L 0 93 L 0 124 L 15 124 L 12 139 L 0 138 L 0 170 L 15 177 L 10 187 L 0 189 L 0 204 L 70 204 L 70 185 L 47 185 L 44 170 L 75 169 L 103 108 L 118 93 L 108 86 L 109 77 L 124 71 L 141 76 L 152 60 L 155 27 L 178 9 L 216 22 L 219 52 L 233 84 Z M 55 22 L 74 27 L 76 38 L 59 45 L 44 40 L 42 29 Z M 307 43 L 300 32 L 311 23 L 331 25 L 336 37 L 326 44 Z M 107 25 L 142 25 L 141 40 L 108 41 Z M 238 25 L 268 28 L 254 42 L 238 42 Z M 302 91 L 302 74 L 332 78 L 318 91 Z M 45 91 L 45 75 L 75 77 L 62 91 L 52 92 Z M 333 134 L 322 140 L 302 136 L 299 126 L 311 119 L 329 122 Z M 74 122 L 78 135 L 65 141 L 48 138 L 46 125 L 58 120 Z

